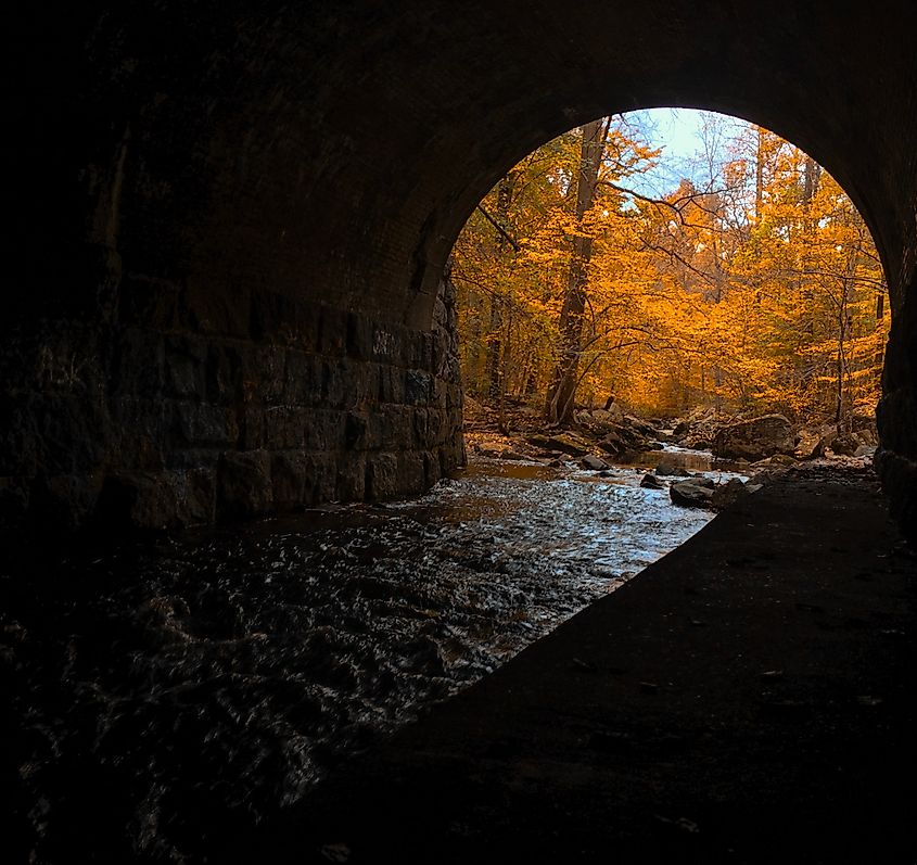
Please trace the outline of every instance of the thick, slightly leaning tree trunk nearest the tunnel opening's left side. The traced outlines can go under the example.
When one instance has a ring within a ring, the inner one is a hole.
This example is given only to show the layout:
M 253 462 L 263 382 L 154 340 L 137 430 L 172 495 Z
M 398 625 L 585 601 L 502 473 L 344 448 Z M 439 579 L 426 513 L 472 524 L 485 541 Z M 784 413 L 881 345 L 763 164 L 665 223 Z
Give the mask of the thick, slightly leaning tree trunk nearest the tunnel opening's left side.
M 576 183 L 576 221 L 581 226 L 583 217 L 591 208 L 596 199 L 596 186 L 607 132 L 608 125 L 601 119 L 581 127 L 580 175 Z M 591 255 L 593 239 L 583 233 L 574 237 L 566 291 L 560 314 L 560 357 L 545 403 L 545 418 L 549 423 L 565 424 L 573 419 L 582 352 L 583 314 L 586 309 L 586 283 Z

